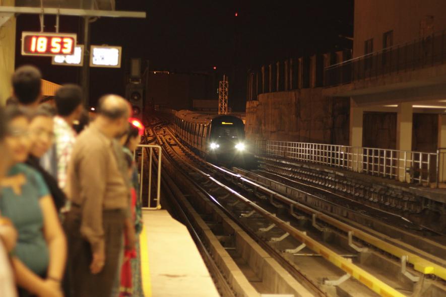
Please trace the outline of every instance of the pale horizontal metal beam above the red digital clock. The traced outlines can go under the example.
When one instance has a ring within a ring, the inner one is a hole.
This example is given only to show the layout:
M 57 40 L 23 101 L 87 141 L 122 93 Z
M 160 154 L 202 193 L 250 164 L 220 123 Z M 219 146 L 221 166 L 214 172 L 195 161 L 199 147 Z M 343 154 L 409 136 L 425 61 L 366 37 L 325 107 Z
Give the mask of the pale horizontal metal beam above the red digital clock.
M 77 17 L 105 17 L 105 18 L 146 18 L 145 12 L 86 10 L 71 8 L 40 8 L 40 7 L 12 7 L 0 6 L 0 14 L 36 14 L 60 15 Z

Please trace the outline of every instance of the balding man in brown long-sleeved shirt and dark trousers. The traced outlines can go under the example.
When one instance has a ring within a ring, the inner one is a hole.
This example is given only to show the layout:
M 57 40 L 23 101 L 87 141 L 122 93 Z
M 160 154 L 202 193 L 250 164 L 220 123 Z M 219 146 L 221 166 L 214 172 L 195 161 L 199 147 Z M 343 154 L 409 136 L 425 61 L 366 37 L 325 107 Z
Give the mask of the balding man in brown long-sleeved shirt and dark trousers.
M 123 229 L 129 225 L 129 188 L 119 170 L 114 138 L 126 133 L 130 113 L 123 98 L 102 97 L 96 120 L 74 146 L 68 169 L 72 208 L 65 227 L 76 297 L 110 297 Z

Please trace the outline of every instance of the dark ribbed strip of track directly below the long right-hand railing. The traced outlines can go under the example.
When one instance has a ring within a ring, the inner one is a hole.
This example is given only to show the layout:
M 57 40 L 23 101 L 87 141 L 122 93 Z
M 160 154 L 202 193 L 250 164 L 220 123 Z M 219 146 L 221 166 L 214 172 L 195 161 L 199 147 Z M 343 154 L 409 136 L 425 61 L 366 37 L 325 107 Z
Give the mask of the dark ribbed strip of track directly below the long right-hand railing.
M 406 222 L 410 223 L 406 224 L 407 228 L 424 232 L 425 235 L 431 233 L 445 236 L 444 226 L 437 224 L 438 220 L 432 219 L 441 213 L 446 214 L 446 208 L 440 202 L 416 196 L 408 191 L 394 191 L 389 187 L 375 186 L 365 181 L 315 170 L 281 157 L 261 155 L 258 158 L 260 168 L 265 171 L 299 181 L 302 186 L 325 189 L 342 199 L 404 217 Z

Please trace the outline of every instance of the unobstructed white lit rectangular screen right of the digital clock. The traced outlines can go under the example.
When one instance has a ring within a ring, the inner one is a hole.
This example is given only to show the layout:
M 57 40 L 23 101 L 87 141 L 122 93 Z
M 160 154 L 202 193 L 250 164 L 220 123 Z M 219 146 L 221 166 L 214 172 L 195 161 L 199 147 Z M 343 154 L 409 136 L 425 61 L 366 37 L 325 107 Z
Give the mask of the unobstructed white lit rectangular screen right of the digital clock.
M 121 51 L 120 46 L 92 45 L 90 48 L 90 66 L 120 68 Z

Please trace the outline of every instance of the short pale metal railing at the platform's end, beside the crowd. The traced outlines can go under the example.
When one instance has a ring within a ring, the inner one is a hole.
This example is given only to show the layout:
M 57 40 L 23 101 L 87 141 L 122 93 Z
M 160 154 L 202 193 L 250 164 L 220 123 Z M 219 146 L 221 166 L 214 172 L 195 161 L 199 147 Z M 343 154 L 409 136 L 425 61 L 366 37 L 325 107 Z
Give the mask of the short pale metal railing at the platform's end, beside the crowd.
M 161 146 L 156 144 L 140 144 L 138 145 L 140 150 L 137 150 L 135 152 L 135 159 L 137 152 L 141 152 L 141 155 L 139 155 L 138 158 L 140 164 L 138 164 L 139 167 L 139 181 L 140 181 L 140 200 L 143 202 L 143 209 L 161 209 L 161 200 L 160 200 L 160 190 L 161 190 L 161 155 L 162 150 Z M 145 170 L 144 164 L 145 162 L 145 154 L 148 154 L 149 161 L 148 161 L 148 169 Z M 156 154 L 156 155 L 155 155 Z M 156 169 L 156 180 L 153 181 L 153 174 L 152 174 L 152 163 L 154 158 L 157 160 L 157 169 Z M 148 174 L 146 176 L 145 174 Z M 147 180 L 146 180 L 147 178 Z M 152 185 L 156 183 L 155 189 L 152 188 Z M 144 189 L 144 186 L 146 186 L 146 189 Z M 147 191 L 145 191 L 147 190 Z M 152 192 L 154 192 L 152 194 Z M 147 193 L 147 199 L 143 199 L 143 193 Z

